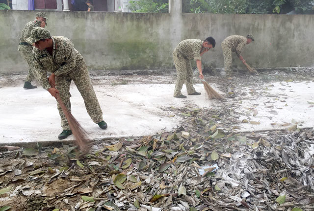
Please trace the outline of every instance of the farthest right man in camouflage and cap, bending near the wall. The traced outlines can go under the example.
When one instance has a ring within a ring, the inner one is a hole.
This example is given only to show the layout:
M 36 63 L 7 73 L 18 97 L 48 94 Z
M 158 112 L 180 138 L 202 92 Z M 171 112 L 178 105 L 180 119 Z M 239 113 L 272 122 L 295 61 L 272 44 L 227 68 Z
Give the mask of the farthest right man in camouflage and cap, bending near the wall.
M 236 56 L 245 63 L 241 53 L 246 44 L 250 44 L 254 41 L 254 36 L 252 34 L 248 34 L 246 37 L 240 35 L 232 35 L 228 36 L 221 43 L 222 52 L 224 54 L 224 62 L 225 62 L 225 71 L 228 75 L 232 74 L 231 67 L 231 52 L 235 52 Z

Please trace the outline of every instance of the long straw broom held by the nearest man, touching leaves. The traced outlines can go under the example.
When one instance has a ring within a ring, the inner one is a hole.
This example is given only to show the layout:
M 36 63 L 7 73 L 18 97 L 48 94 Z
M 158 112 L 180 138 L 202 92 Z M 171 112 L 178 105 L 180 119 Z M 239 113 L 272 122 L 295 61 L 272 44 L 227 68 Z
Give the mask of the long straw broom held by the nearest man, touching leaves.
M 54 84 L 50 84 L 52 88 L 55 88 Z M 75 144 L 79 147 L 79 149 L 84 153 L 87 152 L 90 149 L 89 146 L 89 138 L 87 136 L 87 132 L 84 130 L 84 128 L 78 123 L 78 121 L 75 119 L 75 117 L 71 114 L 71 112 L 68 110 L 68 108 L 64 105 L 64 103 L 61 100 L 60 94 L 55 94 L 57 102 L 59 103 L 65 117 L 67 118 L 69 122 L 69 126 L 72 130 L 72 133 L 75 137 Z

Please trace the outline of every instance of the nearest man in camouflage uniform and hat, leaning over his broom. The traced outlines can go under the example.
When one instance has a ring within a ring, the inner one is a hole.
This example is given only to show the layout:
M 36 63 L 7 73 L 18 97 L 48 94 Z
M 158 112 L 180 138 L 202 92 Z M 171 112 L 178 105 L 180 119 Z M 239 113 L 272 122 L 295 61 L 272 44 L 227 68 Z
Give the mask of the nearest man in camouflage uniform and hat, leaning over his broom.
M 102 129 L 107 128 L 103 120 L 103 112 L 96 97 L 88 75 L 87 65 L 82 55 L 74 48 L 72 41 L 64 36 L 51 36 L 48 30 L 35 27 L 31 31 L 31 41 L 36 48 L 33 50 L 34 67 L 43 88 L 52 96 L 59 93 L 62 102 L 71 111 L 70 84 L 73 80 L 84 99 L 87 113 Z M 52 72 L 47 79 L 47 71 Z M 50 86 L 55 84 L 55 88 Z M 58 104 L 61 117 L 62 133 L 59 139 L 72 134 L 69 123 Z

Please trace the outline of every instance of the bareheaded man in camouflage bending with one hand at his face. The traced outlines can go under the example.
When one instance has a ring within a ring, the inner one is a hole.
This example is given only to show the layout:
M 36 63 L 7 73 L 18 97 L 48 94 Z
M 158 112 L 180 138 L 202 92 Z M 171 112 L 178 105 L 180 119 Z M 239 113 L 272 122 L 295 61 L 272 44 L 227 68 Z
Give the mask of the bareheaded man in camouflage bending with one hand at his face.
M 212 37 L 206 38 L 204 41 L 200 39 L 186 39 L 181 41 L 172 53 L 173 60 L 177 70 L 177 82 L 173 96 L 178 98 L 186 98 L 181 93 L 181 89 L 185 82 L 187 94 L 199 95 L 193 87 L 193 70 L 191 67 L 191 60 L 196 60 L 196 65 L 199 70 L 199 77 L 204 79 L 202 73 L 201 56 L 209 51 L 210 48 L 214 48 L 216 41 Z

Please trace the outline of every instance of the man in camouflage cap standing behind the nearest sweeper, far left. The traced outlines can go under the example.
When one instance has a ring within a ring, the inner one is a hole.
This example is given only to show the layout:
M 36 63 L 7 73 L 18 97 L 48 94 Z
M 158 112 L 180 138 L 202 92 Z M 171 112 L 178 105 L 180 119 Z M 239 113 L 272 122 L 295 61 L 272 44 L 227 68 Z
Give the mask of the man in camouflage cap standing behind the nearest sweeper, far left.
M 22 34 L 20 37 L 20 44 L 18 47 L 18 51 L 20 51 L 20 54 L 22 58 L 27 62 L 28 64 L 28 74 L 26 76 L 26 81 L 24 83 L 24 89 L 34 89 L 37 88 L 36 86 L 31 85 L 30 82 L 32 82 L 35 78 L 35 72 L 34 72 L 34 62 L 33 62 L 33 46 L 32 43 L 28 42 L 28 39 L 30 37 L 30 32 L 34 27 L 43 27 L 46 26 L 46 20 L 48 20 L 46 12 L 38 12 L 36 13 L 36 20 L 28 22 L 24 29 L 22 30 Z

